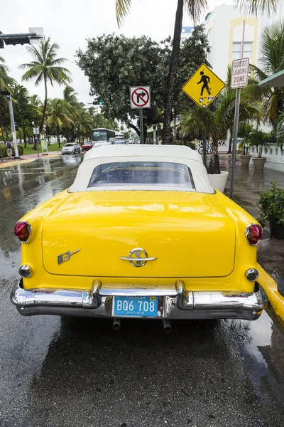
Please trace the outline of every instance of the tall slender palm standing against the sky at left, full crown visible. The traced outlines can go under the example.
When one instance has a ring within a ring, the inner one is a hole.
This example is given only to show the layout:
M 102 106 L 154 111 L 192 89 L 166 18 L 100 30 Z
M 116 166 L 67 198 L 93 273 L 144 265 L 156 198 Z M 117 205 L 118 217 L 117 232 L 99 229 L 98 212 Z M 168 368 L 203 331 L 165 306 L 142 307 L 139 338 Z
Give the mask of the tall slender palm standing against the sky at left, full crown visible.
M 45 111 L 48 102 L 48 83 L 53 86 L 54 83 L 58 85 L 67 85 L 71 82 L 70 71 L 67 68 L 61 67 L 65 63 L 65 58 L 57 58 L 59 46 L 57 43 L 50 42 L 50 37 L 43 41 L 39 48 L 30 46 L 28 53 L 31 54 L 34 60 L 28 64 L 22 64 L 19 68 L 27 70 L 22 75 L 22 80 L 35 80 L 35 86 L 44 83 L 45 86 L 45 100 L 43 103 L 43 118 L 40 122 L 40 133 L 43 132 L 43 124 L 45 121 Z

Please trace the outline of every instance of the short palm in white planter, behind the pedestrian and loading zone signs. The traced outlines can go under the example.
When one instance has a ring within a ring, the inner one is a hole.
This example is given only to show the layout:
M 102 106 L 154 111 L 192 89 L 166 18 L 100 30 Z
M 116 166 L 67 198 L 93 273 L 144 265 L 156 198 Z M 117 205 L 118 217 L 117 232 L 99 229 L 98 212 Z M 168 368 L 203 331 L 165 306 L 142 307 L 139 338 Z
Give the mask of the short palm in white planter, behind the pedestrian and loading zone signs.
M 235 113 L 236 91 L 226 90 L 219 97 L 217 110 L 195 107 L 182 115 L 182 132 L 187 134 L 193 130 L 205 130 L 212 139 L 212 156 L 208 173 L 219 174 L 218 140 L 226 138 L 226 132 L 233 126 Z M 263 107 L 260 102 L 249 102 L 241 97 L 239 120 L 261 120 Z

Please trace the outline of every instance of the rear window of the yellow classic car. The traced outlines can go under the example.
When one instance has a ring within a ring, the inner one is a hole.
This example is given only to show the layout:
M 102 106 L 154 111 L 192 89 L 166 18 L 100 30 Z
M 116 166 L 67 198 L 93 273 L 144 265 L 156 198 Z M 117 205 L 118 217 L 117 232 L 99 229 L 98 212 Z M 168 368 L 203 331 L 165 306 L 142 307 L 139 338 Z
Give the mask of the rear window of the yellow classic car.
M 98 186 L 172 186 L 195 189 L 190 168 L 168 162 L 114 162 L 94 168 L 88 188 Z

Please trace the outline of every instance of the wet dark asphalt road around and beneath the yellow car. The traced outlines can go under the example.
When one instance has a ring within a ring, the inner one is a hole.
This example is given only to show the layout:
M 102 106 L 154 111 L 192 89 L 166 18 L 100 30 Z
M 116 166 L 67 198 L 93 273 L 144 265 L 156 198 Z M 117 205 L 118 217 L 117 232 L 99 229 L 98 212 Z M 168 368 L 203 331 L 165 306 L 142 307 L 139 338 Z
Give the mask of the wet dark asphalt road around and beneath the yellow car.
M 282 427 L 284 337 L 256 322 L 21 317 L 13 225 L 67 188 L 79 155 L 0 169 L 1 427 Z

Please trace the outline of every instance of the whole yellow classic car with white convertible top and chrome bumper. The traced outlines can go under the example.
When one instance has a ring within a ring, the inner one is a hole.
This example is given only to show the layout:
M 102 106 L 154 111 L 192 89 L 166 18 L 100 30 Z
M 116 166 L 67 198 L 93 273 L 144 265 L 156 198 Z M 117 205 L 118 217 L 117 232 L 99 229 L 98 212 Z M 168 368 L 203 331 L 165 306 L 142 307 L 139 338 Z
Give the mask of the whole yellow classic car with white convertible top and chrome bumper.
M 21 315 L 255 320 L 262 228 L 184 146 L 91 149 L 70 189 L 16 223 Z

